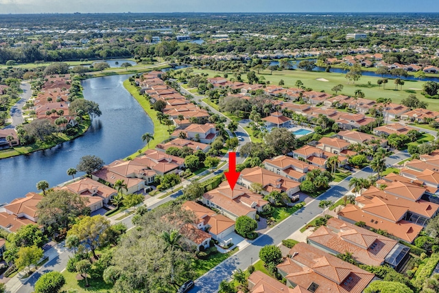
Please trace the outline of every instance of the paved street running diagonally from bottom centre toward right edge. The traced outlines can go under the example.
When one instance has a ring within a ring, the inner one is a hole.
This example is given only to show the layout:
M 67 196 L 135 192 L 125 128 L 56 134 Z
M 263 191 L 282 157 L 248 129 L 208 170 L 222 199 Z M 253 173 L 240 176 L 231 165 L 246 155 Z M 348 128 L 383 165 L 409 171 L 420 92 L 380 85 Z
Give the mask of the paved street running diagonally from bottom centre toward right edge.
M 400 152 L 390 156 L 387 160 L 387 164 L 394 165 L 399 161 L 409 158 L 410 155 L 407 152 Z M 359 172 L 355 173 L 356 178 L 367 178 L 368 176 L 375 174 L 370 167 L 365 167 Z M 279 244 L 283 239 L 292 235 L 295 231 L 301 228 L 304 224 L 311 221 L 316 215 L 322 213 L 322 209 L 318 207 L 320 200 L 333 200 L 334 202 L 342 198 L 349 189 L 349 180 L 352 176 L 348 176 L 338 185 L 334 185 L 328 191 L 324 192 L 316 200 L 309 202 L 304 208 L 300 209 L 285 221 L 274 226 L 264 235 L 254 240 L 252 244 L 246 248 L 239 250 L 238 253 L 232 257 L 226 259 L 218 266 L 210 270 L 204 276 L 195 281 L 195 287 L 190 291 L 191 293 L 213 293 L 217 292 L 219 283 L 224 279 L 230 279 L 233 270 L 241 269 L 245 270 L 250 266 L 251 261 L 257 261 L 259 259 L 259 250 L 269 244 Z

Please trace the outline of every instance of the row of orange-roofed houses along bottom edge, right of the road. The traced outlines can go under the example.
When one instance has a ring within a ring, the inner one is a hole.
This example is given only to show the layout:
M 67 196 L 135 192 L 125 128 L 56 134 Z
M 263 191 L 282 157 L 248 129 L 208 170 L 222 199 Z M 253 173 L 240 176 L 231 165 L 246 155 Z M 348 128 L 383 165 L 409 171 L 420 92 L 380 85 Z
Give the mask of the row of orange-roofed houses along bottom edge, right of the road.
M 351 253 L 357 263 L 369 266 L 386 264 L 399 270 L 409 257 L 410 248 L 396 240 L 337 218 L 328 220 L 309 237 L 307 243 L 294 245 L 276 269 L 286 284 L 255 271 L 248 277 L 252 293 L 351 292 L 360 293 L 374 274 L 335 257 Z

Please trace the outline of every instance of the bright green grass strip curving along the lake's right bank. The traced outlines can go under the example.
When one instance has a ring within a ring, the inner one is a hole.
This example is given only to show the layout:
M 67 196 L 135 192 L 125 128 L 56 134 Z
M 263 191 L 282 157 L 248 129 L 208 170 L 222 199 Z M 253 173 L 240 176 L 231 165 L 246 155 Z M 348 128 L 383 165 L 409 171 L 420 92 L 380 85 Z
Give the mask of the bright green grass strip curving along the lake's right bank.
M 145 110 L 145 113 L 147 113 L 147 115 L 152 119 L 152 123 L 154 124 L 154 139 L 150 141 L 150 148 L 154 149 L 158 143 L 161 143 L 170 137 L 169 133 L 167 132 L 167 126 L 158 121 L 157 112 L 151 108 L 150 101 L 145 99 L 143 95 L 140 95 L 139 91 L 137 91 L 137 88 L 131 85 L 129 80 L 124 81 L 123 86 L 125 86 L 125 89 L 130 92 L 134 99 L 137 99 L 137 102 L 139 102 L 143 110 Z M 145 152 L 147 149 L 148 145 L 145 143 L 145 146 L 141 149 L 141 152 Z M 135 152 L 132 154 L 132 156 L 137 156 L 137 154 L 139 153 Z

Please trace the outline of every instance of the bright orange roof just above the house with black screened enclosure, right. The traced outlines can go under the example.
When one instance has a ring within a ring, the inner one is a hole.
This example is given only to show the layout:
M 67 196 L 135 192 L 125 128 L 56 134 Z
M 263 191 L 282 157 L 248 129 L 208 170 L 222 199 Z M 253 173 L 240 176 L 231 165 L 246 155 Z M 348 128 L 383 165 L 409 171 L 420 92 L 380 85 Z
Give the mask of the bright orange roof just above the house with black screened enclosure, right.
M 403 239 L 405 242 L 412 243 L 418 237 L 423 226 L 413 224 L 411 222 L 401 220 L 399 222 L 392 222 L 379 218 L 377 215 L 372 215 L 361 211 L 360 207 L 354 204 L 348 204 L 342 211 L 338 213 L 339 216 L 348 218 L 353 222 L 365 222 L 366 226 L 375 229 L 381 229 L 388 233 Z

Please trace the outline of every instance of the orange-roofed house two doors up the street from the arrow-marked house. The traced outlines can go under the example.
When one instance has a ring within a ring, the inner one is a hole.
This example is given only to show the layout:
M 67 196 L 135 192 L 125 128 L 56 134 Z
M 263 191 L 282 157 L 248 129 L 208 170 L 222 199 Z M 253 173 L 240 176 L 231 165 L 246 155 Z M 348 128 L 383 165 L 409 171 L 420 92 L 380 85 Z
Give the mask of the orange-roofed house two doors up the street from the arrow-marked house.
M 265 159 L 263 164 L 265 169 L 297 182 L 305 180 L 307 172 L 316 169 L 316 166 L 285 155 L 276 156 L 273 159 Z

